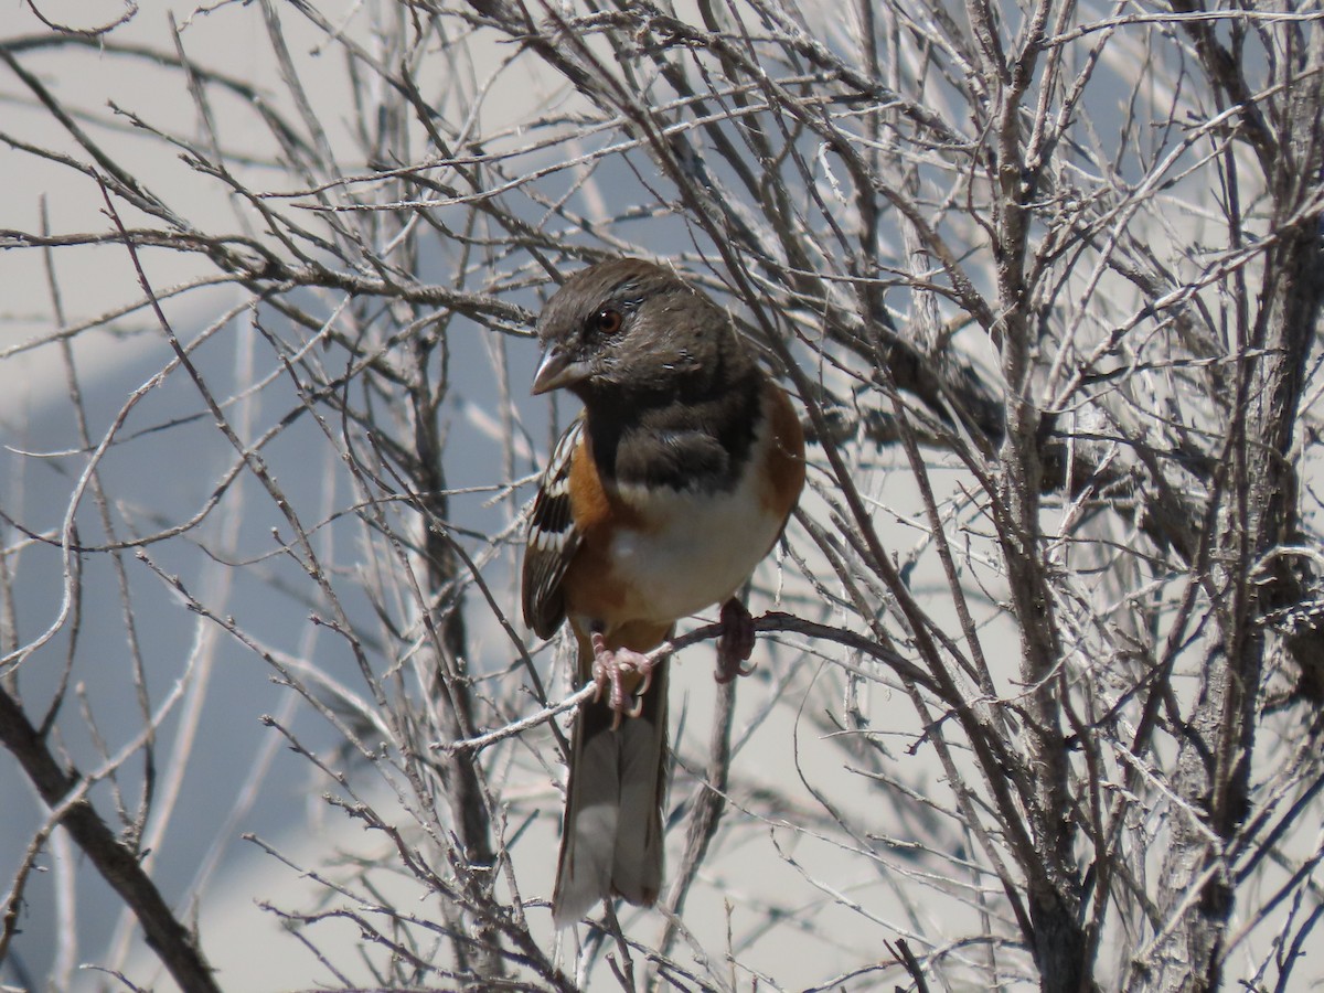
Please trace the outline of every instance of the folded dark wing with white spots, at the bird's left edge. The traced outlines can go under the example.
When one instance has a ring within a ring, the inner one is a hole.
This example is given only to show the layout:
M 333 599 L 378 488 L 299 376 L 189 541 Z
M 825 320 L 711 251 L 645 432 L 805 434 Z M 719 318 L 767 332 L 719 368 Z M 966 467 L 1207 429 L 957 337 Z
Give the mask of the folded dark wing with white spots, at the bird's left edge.
M 528 516 L 524 545 L 524 576 L 520 593 L 524 624 L 539 638 L 549 638 L 565 620 L 561 580 L 579 551 L 581 535 L 571 519 L 571 458 L 584 433 L 583 416 L 565 429 L 538 481 L 538 495 Z

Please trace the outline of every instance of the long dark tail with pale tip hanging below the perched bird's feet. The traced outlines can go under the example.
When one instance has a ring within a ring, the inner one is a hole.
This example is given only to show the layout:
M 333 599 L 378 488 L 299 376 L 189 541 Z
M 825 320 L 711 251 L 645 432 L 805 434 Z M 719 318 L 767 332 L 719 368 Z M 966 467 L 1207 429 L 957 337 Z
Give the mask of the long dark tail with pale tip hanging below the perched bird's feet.
M 612 895 L 651 906 L 662 888 L 667 670 L 667 659 L 658 663 L 639 715 L 620 718 L 614 730 L 618 715 L 605 695 L 584 703 L 575 719 L 552 894 L 557 928 Z

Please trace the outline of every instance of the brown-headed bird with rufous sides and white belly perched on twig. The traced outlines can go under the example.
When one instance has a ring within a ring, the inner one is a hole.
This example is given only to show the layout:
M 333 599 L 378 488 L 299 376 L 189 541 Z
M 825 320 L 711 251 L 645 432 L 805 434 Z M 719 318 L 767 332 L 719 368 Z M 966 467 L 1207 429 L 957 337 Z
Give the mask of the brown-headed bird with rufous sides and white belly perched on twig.
M 720 605 L 719 682 L 747 675 L 736 596 L 805 482 L 786 392 L 731 316 L 673 269 L 614 258 L 571 275 L 539 315 L 532 393 L 583 402 L 543 470 L 520 583 L 527 626 L 568 620 L 580 685 L 552 919 L 598 900 L 651 906 L 663 869 L 667 659 L 677 621 Z

